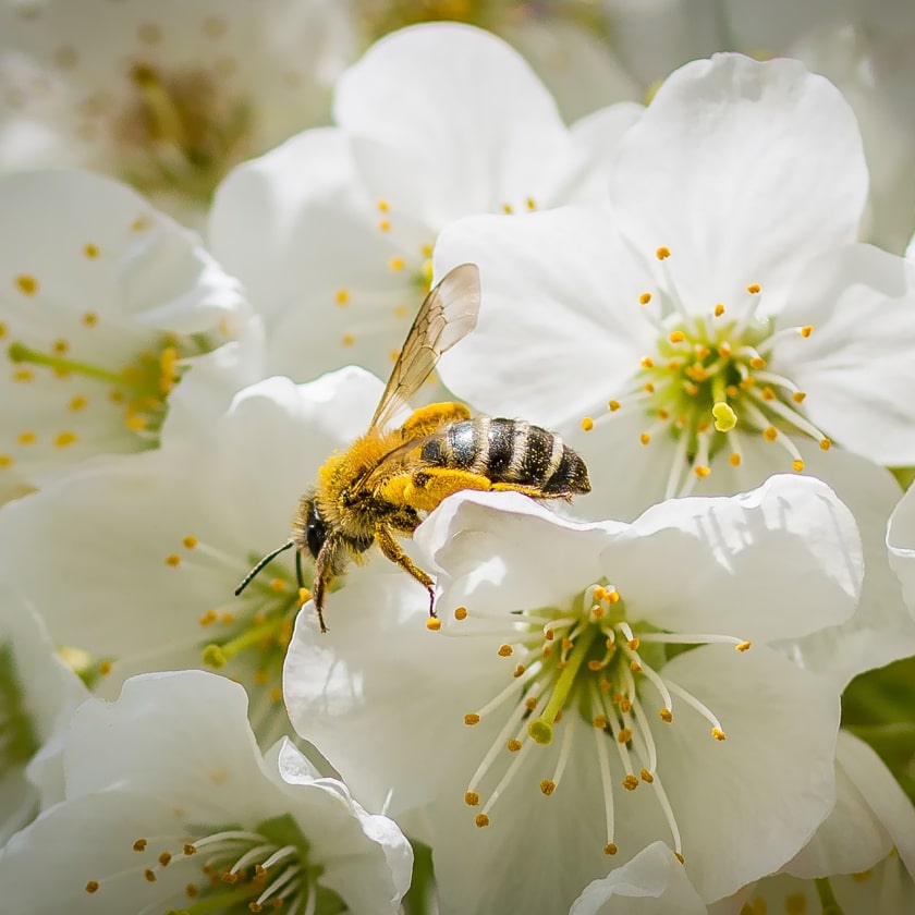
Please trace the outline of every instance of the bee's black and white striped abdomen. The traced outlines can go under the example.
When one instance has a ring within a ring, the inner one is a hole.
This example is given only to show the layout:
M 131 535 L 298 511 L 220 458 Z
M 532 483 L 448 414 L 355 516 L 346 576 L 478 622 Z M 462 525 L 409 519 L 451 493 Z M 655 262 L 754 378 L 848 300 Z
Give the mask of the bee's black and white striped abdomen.
M 431 466 L 532 486 L 545 497 L 590 492 L 585 462 L 559 436 L 522 419 L 450 423 L 423 443 L 420 454 Z

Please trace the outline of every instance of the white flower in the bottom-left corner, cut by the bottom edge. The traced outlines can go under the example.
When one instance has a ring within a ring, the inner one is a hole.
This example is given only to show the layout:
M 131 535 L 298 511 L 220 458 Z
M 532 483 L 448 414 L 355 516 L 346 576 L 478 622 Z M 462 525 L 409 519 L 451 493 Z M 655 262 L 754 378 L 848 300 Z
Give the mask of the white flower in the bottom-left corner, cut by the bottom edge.
M 0 852 L 10 910 L 395 913 L 412 852 L 283 741 L 266 758 L 244 690 L 200 671 L 136 676 L 74 713 L 66 797 Z

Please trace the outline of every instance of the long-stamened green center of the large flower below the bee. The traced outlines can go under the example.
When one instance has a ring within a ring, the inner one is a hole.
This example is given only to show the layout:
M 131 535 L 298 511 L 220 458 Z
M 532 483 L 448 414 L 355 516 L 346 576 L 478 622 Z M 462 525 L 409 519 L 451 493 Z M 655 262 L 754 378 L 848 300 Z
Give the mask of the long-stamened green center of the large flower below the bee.
M 469 611 L 461 607 L 454 615 L 459 621 L 466 620 Z M 464 793 L 467 805 L 483 805 L 475 818 L 478 827 L 489 826 L 496 802 L 525 760 L 533 758 L 537 760 L 534 765 L 540 765 L 544 757 L 537 756 L 537 747 L 550 746 L 559 736 L 553 770 L 539 781 L 542 794 L 551 796 L 560 786 L 572 753 L 594 740 L 605 802 L 605 853 L 615 854 L 618 850 L 612 772 L 621 770 L 621 785 L 626 791 L 635 791 L 640 784 L 651 786 L 670 827 L 674 852 L 682 859 L 680 830 L 658 772 L 652 724 L 642 693 L 648 688 L 660 697 L 661 724 L 673 722 L 676 700 L 705 718 L 711 736 L 723 741 L 724 730 L 715 713 L 660 672 L 666 647 L 724 643 L 745 651 L 751 645 L 731 636 L 657 632 L 644 624 L 630 625 L 625 615 L 619 591 L 600 584 L 588 587 L 569 613 L 546 608 L 517 615 L 512 631 L 514 643 L 499 648 L 499 655 L 511 658 L 514 664 L 511 682 L 483 708 L 464 716 L 464 723 L 474 727 L 500 709 L 504 715 L 504 707 L 511 707 L 505 725 Z M 588 729 L 594 739 L 587 736 Z M 504 758 L 504 751 L 513 758 L 484 803 L 483 786 L 495 781 L 493 770 Z

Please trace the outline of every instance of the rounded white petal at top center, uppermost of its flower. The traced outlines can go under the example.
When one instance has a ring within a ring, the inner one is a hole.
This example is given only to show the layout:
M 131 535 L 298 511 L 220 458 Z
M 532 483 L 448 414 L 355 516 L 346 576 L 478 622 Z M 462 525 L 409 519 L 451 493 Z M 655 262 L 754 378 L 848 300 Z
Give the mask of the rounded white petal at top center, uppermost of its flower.
M 554 206 L 584 162 L 525 61 L 454 23 L 378 41 L 338 82 L 333 110 L 373 196 L 437 228 L 528 198 Z

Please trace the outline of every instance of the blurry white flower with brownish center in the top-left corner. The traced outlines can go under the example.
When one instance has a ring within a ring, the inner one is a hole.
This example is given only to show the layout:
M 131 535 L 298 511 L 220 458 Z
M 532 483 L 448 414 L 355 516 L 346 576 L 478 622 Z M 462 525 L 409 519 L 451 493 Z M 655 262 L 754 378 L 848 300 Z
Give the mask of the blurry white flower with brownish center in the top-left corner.
M 327 117 L 352 59 L 335 0 L 4 0 L 0 167 L 82 166 L 185 211 Z

